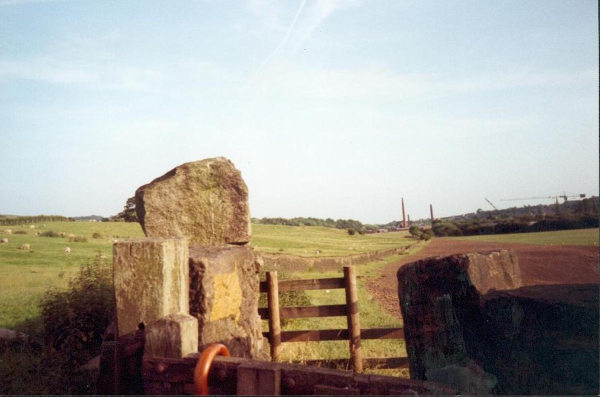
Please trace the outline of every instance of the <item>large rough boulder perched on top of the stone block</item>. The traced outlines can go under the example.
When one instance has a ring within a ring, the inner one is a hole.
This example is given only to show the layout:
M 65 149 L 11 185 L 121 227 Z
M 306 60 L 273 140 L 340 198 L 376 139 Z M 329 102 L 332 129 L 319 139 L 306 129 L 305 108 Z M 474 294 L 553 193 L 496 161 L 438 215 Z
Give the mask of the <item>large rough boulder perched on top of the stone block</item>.
M 185 163 L 135 192 L 148 237 L 188 237 L 191 244 L 250 241 L 248 188 L 223 157 Z

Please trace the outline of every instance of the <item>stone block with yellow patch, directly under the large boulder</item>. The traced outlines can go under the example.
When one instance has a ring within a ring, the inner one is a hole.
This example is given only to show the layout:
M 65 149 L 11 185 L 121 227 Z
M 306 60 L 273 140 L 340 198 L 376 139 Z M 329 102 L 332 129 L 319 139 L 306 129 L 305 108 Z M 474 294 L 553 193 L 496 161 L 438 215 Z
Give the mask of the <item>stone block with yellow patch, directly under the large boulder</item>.
M 223 343 L 232 356 L 268 360 L 258 315 L 262 261 L 251 247 L 190 247 L 190 314 L 199 350 Z

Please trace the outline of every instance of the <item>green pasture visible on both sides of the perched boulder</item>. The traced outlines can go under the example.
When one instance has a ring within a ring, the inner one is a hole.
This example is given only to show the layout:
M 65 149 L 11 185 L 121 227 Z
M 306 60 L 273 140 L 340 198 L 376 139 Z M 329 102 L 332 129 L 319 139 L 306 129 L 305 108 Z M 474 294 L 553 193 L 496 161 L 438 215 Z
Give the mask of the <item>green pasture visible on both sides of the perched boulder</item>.
M 44 292 L 65 287 L 69 276 L 96 255 L 112 261 L 115 239 L 138 238 L 144 234 L 138 223 L 122 222 L 46 222 L 35 229 L 25 226 L 0 226 L 13 234 L 4 235 L 8 244 L 0 245 L 0 328 L 13 328 L 39 314 L 38 303 Z M 85 237 L 87 242 L 72 242 L 66 237 L 38 237 L 36 232 L 54 231 Z M 26 234 L 16 234 L 24 232 Z M 100 235 L 94 238 L 94 233 Z M 350 236 L 345 230 L 324 227 L 253 225 L 252 244 L 263 252 L 296 255 L 349 255 L 401 247 L 414 242 L 406 233 Z M 30 250 L 18 249 L 29 244 Z M 71 253 L 65 253 L 65 247 Z

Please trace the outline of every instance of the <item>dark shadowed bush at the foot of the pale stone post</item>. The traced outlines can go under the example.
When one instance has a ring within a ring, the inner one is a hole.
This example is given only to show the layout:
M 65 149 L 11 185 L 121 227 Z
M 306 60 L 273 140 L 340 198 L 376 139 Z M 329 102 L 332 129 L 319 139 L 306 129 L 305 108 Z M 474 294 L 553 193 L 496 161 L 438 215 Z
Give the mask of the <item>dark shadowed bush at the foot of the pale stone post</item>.
M 48 290 L 41 330 L 0 340 L 0 394 L 90 394 L 94 374 L 79 371 L 100 352 L 114 312 L 112 269 L 100 255 L 81 266 L 67 289 Z

